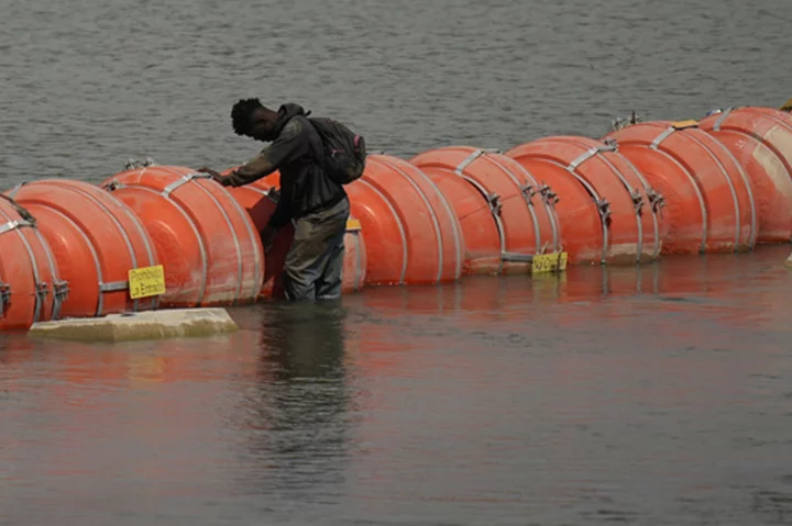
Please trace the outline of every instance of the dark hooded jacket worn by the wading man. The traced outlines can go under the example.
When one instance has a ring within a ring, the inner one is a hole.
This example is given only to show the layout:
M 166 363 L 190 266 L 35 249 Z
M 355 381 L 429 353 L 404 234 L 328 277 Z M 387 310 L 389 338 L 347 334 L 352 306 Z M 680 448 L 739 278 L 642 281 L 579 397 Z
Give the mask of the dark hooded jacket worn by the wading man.
M 346 197 L 343 187 L 331 180 L 319 165 L 322 143 L 299 104 L 278 109 L 273 142 L 255 158 L 232 171 L 226 184 L 241 187 L 280 172 L 280 198 L 270 225 L 279 228 L 292 219 L 333 206 Z

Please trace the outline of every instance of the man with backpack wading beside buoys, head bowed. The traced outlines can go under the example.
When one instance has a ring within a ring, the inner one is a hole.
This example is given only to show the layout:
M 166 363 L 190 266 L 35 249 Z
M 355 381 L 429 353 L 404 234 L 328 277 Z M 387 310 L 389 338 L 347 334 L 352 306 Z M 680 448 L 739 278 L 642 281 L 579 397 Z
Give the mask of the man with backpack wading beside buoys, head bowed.
M 308 119 L 309 114 L 295 103 L 273 111 L 258 99 L 238 101 L 231 110 L 237 135 L 272 144 L 228 176 L 199 170 L 230 187 L 280 172 L 280 197 L 261 236 L 267 249 L 277 230 L 294 222 L 294 242 L 283 270 L 284 292 L 292 301 L 341 295 L 350 214 L 343 184 L 358 179 L 365 165 L 362 137 L 336 121 Z

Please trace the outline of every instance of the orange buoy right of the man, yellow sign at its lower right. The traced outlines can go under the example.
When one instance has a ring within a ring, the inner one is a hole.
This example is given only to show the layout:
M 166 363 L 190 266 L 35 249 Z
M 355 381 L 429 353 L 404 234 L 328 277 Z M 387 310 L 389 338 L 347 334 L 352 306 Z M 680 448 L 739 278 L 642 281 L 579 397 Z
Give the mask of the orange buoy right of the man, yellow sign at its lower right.
M 410 159 L 421 170 L 441 168 L 468 181 L 490 204 L 501 242 L 498 271 L 530 270 L 530 256 L 557 250 L 558 221 L 552 202 L 537 200 L 536 179 L 514 159 L 498 152 L 444 147 Z

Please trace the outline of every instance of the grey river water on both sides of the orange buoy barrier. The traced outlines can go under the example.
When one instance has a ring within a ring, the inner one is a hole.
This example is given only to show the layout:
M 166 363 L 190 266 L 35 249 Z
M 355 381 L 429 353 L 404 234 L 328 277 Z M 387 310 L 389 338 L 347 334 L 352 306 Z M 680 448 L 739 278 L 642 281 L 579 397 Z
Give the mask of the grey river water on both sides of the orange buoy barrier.
M 4 0 L 0 186 L 224 168 L 242 97 L 507 149 L 792 97 L 787 2 Z M 789 247 L 0 336 L 1 525 L 792 524 Z

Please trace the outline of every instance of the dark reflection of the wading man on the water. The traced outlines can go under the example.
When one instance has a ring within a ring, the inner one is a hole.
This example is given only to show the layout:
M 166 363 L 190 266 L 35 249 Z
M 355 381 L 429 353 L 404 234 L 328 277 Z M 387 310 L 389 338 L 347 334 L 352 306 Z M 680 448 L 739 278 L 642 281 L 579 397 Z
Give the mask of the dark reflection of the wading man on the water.
M 272 305 L 261 322 L 253 381 L 231 425 L 243 437 L 242 491 L 296 493 L 339 483 L 350 394 L 344 312 L 330 304 Z

